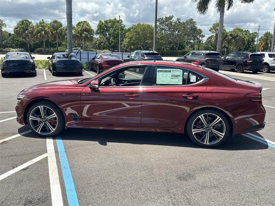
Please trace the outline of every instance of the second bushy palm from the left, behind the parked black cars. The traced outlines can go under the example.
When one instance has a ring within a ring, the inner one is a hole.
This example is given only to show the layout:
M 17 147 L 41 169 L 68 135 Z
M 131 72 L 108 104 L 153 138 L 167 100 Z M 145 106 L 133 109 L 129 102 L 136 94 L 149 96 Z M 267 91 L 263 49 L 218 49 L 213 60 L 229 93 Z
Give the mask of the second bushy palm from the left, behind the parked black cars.
M 43 41 L 43 52 L 46 53 L 45 41 L 51 37 L 49 24 L 45 21 L 39 21 L 34 25 L 34 37 Z

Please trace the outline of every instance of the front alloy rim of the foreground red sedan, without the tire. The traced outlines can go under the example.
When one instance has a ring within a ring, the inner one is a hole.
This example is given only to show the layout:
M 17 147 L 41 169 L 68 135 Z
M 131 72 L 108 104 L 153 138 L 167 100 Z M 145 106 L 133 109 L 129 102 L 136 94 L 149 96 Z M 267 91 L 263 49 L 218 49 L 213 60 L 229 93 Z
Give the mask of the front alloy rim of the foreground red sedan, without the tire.
M 58 125 L 56 113 L 46 106 L 35 107 L 29 115 L 29 122 L 34 131 L 44 135 L 53 133 Z

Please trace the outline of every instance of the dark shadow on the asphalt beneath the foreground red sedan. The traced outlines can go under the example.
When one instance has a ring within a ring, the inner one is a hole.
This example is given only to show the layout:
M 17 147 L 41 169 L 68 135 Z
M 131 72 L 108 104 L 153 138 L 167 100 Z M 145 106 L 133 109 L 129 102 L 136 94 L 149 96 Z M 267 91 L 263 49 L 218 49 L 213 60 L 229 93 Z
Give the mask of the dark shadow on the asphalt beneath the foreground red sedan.
M 22 126 L 18 133 L 29 130 L 28 126 Z M 122 131 L 106 129 L 76 129 L 68 128 L 60 133 L 62 140 L 94 141 L 100 145 L 108 145 L 108 142 L 128 143 L 137 145 L 162 145 L 173 147 L 203 148 L 194 144 L 188 135 L 168 132 L 143 132 L 143 131 Z M 260 136 L 260 134 L 257 134 Z M 42 138 L 34 133 L 22 135 L 24 137 Z M 216 148 L 205 148 L 214 150 L 263 150 L 268 145 L 257 142 L 243 135 L 236 135 L 228 139 L 224 144 Z

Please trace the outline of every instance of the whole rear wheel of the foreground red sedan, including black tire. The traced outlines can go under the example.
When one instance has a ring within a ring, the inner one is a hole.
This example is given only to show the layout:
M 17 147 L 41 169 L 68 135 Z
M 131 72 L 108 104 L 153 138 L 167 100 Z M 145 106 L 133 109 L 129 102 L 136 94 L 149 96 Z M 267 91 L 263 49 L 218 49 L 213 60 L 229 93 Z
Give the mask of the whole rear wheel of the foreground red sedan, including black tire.
M 204 120 L 208 120 L 206 121 L 206 124 L 202 122 L 202 116 L 204 117 Z M 215 120 L 218 117 L 220 120 L 215 123 Z M 213 123 L 213 128 L 211 127 L 211 123 Z M 202 109 L 195 112 L 188 120 L 186 129 L 190 139 L 195 144 L 202 147 L 219 146 L 230 136 L 230 124 L 226 116 L 215 109 Z M 196 129 L 202 131 L 198 132 Z M 206 138 L 207 135 L 208 141 Z

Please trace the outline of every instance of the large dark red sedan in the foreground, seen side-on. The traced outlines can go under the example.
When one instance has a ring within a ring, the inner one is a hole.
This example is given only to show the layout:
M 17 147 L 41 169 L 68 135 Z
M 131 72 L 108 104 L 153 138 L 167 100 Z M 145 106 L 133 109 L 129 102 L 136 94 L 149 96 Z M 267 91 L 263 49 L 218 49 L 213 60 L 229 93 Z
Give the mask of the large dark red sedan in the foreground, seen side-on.
M 261 91 L 260 83 L 191 63 L 132 61 L 95 77 L 27 88 L 15 110 L 20 124 L 43 137 L 66 127 L 186 132 L 213 147 L 264 128 Z

